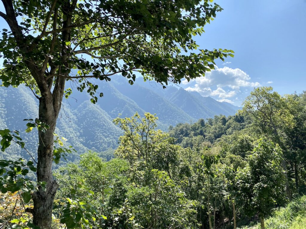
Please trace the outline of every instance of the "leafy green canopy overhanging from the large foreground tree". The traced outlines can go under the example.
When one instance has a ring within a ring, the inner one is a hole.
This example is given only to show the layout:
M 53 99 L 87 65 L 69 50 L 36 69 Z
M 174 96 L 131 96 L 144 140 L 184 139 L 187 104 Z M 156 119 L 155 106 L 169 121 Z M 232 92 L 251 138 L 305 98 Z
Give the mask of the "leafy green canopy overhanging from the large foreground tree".
M 210 1 L 92 0 L 78 2 L 69 16 L 64 2 L 58 1 L 54 8 L 51 5 L 48 1 L 39 4 L 35 1 L 31 4 L 13 2 L 16 15 L 23 17 L 21 29 L 24 37 L 20 44 L 20 40 L 16 40 L 8 30 L 2 32 L 0 52 L 4 55 L 4 69 L 0 78 L 3 85 L 24 83 L 40 95 L 37 78 L 34 80 L 25 60 L 40 67 L 47 58 L 47 71 L 43 70 L 40 77 L 49 77 L 50 68 L 57 66 L 57 73 L 80 77 L 80 82 L 76 81 L 79 83 L 77 88 L 81 91 L 86 88 L 91 93 L 91 102 L 95 103 L 96 89 L 83 77 L 109 81 L 111 75 L 121 73 L 130 79 L 129 84 L 133 84 L 138 71 L 144 78 L 154 78 L 164 86 L 168 81 L 180 83 L 183 78 L 204 75 L 215 64 L 215 59 L 233 56 L 233 51 L 226 49 L 192 52 L 199 47 L 193 36 L 201 35 L 205 24 L 222 10 Z M 54 18 L 54 9 L 57 18 Z M 70 16 L 73 24 L 71 39 L 61 40 L 60 33 L 51 32 L 53 23 L 57 22 L 60 29 Z M 45 24 L 47 18 L 50 20 Z M 59 38 L 55 45 L 53 35 Z M 19 46 L 31 48 L 20 49 Z M 65 63 L 62 62 L 60 47 L 69 52 Z M 54 82 L 56 78 L 57 74 L 54 74 Z M 71 92 L 64 94 L 68 97 Z

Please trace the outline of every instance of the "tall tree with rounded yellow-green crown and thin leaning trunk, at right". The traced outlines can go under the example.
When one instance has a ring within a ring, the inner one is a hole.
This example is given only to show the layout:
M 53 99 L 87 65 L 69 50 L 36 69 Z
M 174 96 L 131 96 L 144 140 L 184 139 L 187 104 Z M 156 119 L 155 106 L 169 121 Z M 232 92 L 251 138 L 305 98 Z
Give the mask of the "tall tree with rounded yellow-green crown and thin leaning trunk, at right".
M 251 95 L 245 99 L 243 112 L 252 115 L 254 125 L 260 127 L 264 134 L 272 133 L 276 142 L 286 152 L 280 132 L 292 129 L 295 122 L 285 98 L 277 92 L 273 92 L 272 87 L 259 87 L 254 89 Z M 282 160 L 282 166 L 287 171 L 285 159 Z M 286 192 L 287 197 L 292 199 L 287 174 Z

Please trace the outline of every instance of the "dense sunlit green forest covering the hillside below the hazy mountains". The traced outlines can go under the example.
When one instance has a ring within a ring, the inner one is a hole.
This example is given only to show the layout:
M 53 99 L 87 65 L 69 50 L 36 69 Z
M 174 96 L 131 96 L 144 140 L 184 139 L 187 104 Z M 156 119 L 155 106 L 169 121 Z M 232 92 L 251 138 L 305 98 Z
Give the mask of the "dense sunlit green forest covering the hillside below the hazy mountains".
M 212 229 L 259 222 L 261 228 L 304 228 L 305 107 L 306 92 L 281 96 L 260 87 L 236 115 L 180 123 L 167 132 L 150 113 L 115 118 L 123 134 L 112 159 L 88 151 L 54 172 L 60 186 L 53 224 Z M 0 166 L 3 172 L 31 168 L 19 162 Z M 10 182 L 5 177 L 2 191 Z M 9 220 L 7 227 L 28 227 L 28 186 L 2 194 L 0 220 Z

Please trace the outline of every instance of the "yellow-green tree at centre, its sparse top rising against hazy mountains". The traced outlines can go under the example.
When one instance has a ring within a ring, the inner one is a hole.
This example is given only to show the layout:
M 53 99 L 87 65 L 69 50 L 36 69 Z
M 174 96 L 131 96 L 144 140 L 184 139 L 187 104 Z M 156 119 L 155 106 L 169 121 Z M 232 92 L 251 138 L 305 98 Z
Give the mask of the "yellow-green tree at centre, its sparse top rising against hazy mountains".
M 195 203 L 183 191 L 188 185 L 188 151 L 155 130 L 156 120 L 150 113 L 115 118 L 124 131 L 115 155 L 130 164 L 127 196 L 137 222 L 145 228 L 186 228 L 195 215 Z

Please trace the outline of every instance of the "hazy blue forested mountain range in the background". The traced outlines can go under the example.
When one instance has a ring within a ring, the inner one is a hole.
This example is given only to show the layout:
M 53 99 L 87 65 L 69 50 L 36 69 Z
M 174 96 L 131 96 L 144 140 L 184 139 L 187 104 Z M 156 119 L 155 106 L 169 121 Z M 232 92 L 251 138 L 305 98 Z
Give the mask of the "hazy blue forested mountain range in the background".
M 74 161 L 77 154 L 94 150 L 110 152 L 118 145 L 122 131 L 112 120 L 130 117 L 137 111 L 155 113 L 159 120 L 159 129 L 168 130 L 170 125 L 195 122 L 199 118 L 212 118 L 215 115 L 234 115 L 238 107 L 221 103 L 211 97 L 203 97 L 197 92 L 188 92 L 182 88 L 169 85 L 163 89 L 155 82 L 143 82 L 136 79 L 129 85 L 127 79 L 115 76 L 111 82 L 95 81 L 99 85 L 98 92 L 103 97 L 97 104 L 91 104 L 90 96 L 80 93 L 76 86 L 67 83 L 67 88 L 73 89 L 69 99 L 64 99 L 58 118 L 56 134 L 68 139 L 65 146 L 73 146 L 77 152 L 69 154 L 68 161 Z M 26 121 L 38 116 L 38 101 L 30 89 L 25 86 L 18 88 L 0 87 L 0 129 L 18 130 L 26 143 L 26 148 L 36 155 L 38 137 L 36 131 L 25 133 Z M 12 144 L 0 155 L 0 158 L 29 158 L 27 152 L 18 145 Z M 62 162 L 63 163 L 63 162 Z

